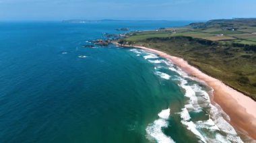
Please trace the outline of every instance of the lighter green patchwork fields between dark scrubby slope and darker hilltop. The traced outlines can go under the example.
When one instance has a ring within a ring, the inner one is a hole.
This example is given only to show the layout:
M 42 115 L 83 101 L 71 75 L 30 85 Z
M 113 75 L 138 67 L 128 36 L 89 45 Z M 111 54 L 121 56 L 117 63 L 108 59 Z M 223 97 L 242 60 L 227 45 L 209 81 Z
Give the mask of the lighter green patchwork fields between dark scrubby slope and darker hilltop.
M 240 24 L 240 23 L 239 23 Z M 255 21 L 256 24 L 256 21 Z M 215 26 L 215 25 L 214 25 Z M 201 38 L 205 40 L 212 40 L 213 42 L 220 43 L 238 43 L 238 44 L 249 44 L 254 45 L 256 42 L 256 34 L 251 34 L 248 32 L 249 30 L 256 30 L 256 27 L 253 26 L 240 26 L 238 30 L 222 30 L 220 27 L 209 26 L 206 28 L 196 28 L 193 29 L 189 26 L 181 27 L 181 28 L 166 28 L 164 30 L 154 30 L 154 31 L 145 31 L 145 32 L 134 32 L 127 40 L 129 41 L 137 41 L 137 40 L 146 40 L 148 38 L 166 38 L 166 37 L 174 37 L 174 36 L 189 36 L 192 38 Z M 176 34 L 172 34 L 172 32 L 176 30 Z M 242 31 L 241 31 L 242 30 Z M 216 36 L 217 34 L 224 34 L 224 36 Z M 228 41 L 228 42 L 221 42 Z

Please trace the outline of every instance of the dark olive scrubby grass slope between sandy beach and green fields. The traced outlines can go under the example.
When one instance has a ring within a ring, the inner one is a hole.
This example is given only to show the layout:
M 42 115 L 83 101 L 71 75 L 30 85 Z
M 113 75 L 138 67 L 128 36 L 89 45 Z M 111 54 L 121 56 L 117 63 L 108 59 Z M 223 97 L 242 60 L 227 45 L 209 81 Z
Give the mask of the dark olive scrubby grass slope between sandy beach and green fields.
M 255 46 L 219 44 L 187 36 L 119 40 L 119 43 L 155 48 L 184 58 L 203 73 L 220 79 L 226 85 L 256 100 Z

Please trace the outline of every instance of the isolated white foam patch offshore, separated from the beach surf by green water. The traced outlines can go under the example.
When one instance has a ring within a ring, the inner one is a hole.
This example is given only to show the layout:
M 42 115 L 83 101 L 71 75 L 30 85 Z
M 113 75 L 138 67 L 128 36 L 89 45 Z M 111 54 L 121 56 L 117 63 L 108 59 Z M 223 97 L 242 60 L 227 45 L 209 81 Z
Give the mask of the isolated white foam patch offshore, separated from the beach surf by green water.
M 146 128 L 146 132 L 148 134 L 148 139 L 154 138 L 157 142 L 161 143 L 172 143 L 174 142 L 170 136 L 166 136 L 162 132 L 162 128 L 168 127 L 168 117 L 170 115 L 170 109 L 164 109 L 160 113 L 158 113 L 158 116 L 160 119 L 154 121 L 154 123 L 149 124 L 149 126 Z

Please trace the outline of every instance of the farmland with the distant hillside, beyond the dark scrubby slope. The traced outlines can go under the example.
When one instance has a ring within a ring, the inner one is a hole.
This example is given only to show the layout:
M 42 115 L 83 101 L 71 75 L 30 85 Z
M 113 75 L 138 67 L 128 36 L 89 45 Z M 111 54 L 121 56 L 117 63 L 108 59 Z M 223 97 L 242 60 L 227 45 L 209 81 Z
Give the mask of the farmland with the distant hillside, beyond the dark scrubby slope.
M 179 28 L 166 28 L 146 32 L 132 32 L 127 40 L 146 40 L 147 38 L 164 38 L 174 36 L 189 36 L 214 42 L 230 40 L 237 44 L 256 44 L 256 19 L 213 20 L 204 23 L 191 23 Z M 230 43 L 226 42 L 226 43 Z

